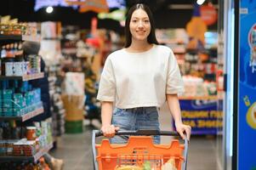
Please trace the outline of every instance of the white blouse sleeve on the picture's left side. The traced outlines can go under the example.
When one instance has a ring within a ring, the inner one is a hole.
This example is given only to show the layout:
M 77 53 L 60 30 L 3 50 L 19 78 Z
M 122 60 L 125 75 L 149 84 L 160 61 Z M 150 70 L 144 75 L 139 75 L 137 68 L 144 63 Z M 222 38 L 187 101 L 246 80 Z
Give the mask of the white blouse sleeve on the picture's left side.
M 105 60 L 105 65 L 100 77 L 99 91 L 97 99 L 100 101 L 115 101 L 116 81 L 111 64 L 111 59 Z

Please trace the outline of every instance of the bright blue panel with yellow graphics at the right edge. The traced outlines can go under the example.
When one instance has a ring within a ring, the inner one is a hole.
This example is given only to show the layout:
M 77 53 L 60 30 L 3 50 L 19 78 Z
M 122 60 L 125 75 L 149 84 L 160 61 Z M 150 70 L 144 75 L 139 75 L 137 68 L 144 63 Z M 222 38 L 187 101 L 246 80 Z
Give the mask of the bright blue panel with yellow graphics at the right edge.
M 256 2 L 240 2 L 237 161 L 238 169 L 253 170 L 256 168 Z

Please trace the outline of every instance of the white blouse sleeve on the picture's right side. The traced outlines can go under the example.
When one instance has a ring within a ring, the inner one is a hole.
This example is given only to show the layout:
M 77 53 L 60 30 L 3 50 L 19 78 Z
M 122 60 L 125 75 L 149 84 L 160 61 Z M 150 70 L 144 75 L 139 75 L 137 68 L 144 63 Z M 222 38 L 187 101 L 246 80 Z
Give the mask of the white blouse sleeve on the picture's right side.
M 168 77 L 166 94 L 182 94 L 184 92 L 184 83 L 179 71 L 179 65 L 171 51 L 168 59 Z

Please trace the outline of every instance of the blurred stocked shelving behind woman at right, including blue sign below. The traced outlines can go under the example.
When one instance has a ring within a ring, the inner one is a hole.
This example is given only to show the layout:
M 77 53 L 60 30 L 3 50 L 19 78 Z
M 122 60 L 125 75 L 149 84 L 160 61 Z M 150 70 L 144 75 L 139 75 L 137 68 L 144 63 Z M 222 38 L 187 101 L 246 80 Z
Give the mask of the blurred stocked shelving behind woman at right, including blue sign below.
M 223 98 L 217 91 L 220 73 L 217 74 L 222 67 L 219 67 L 217 32 L 209 33 L 200 47 L 189 43 L 185 29 L 158 30 L 157 41 L 173 50 L 179 64 L 185 84 L 185 93 L 179 96 L 182 119 L 196 135 L 219 134 L 217 129 L 222 128 Z

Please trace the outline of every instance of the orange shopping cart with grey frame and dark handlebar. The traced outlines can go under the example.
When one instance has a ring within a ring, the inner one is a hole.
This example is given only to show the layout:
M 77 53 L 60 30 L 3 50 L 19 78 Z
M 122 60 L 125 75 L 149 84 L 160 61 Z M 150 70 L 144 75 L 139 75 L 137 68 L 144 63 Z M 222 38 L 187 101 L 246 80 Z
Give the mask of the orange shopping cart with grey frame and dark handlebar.
M 93 131 L 94 170 L 169 170 L 171 168 L 168 168 L 167 163 L 171 161 L 177 170 L 186 169 L 187 139 L 184 140 L 184 144 L 180 144 L 179 139 L 173 139 L 170 144 L 153 144 L 151 137 L 179 136 L 176 132 L 138 130 L 118 131 L 116 135 L 131 136 L 127 144 L 110 144 L 109 139 L 102 139 L 101 144 L 95 144 L 96 137 L 103 136 L 103 133 Z

